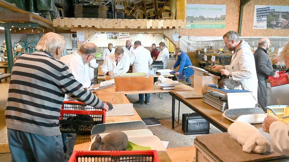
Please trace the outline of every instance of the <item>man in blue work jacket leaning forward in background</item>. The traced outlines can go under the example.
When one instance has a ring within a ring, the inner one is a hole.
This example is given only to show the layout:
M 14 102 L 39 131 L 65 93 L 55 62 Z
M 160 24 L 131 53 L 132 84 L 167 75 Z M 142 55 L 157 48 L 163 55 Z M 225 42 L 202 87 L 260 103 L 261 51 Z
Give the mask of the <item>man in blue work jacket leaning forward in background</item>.
M 176 72 L 176 75 L 179 75 L 180 73 L 182 73 L 186 77 L 190 77 L 191 75 L 193 75 L 193 68 L 188 67 L 193 66 L 189 56 L 185 54 L 185 52 L 183 52 L 179 47 L 176 48 L 175 53 L 178 59 L 175 65 L 171 68 L 171 70 L 176 69 L 180 65 L 178 72 Z M 190 83 L 190 79 L 186 79 L 186 82 Z

